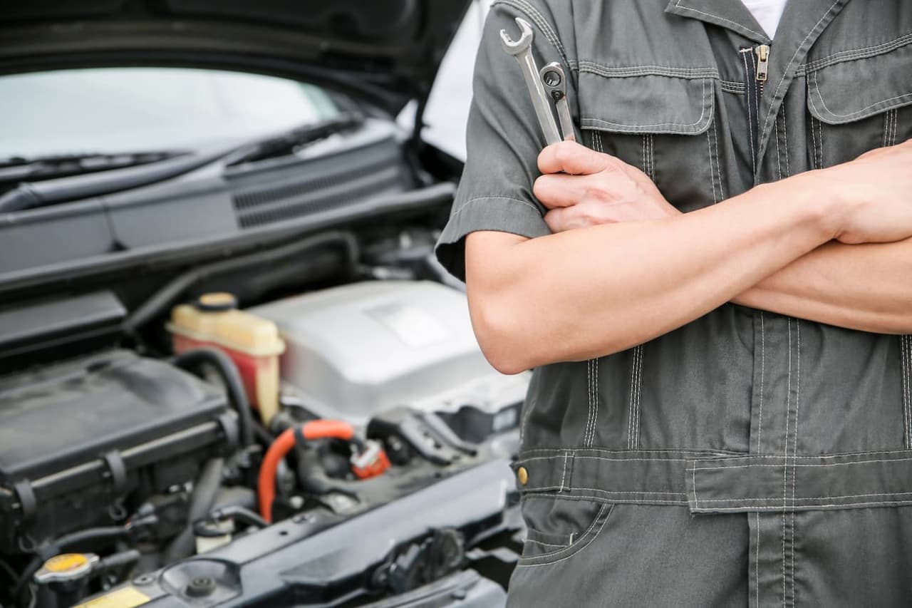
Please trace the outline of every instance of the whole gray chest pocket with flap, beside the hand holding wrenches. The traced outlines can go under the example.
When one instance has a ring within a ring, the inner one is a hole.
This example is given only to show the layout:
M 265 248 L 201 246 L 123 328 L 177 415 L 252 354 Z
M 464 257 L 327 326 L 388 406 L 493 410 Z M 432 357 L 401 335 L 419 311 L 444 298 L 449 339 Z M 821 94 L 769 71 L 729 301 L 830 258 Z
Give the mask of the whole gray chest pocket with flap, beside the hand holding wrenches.
M 646 173 L 683 212 L 725 198 L 716 124 L 718 79 L 711 70 L 682 76 L 648 68 L 603 68 L 580 62 L 580 126 L 586 144 Z

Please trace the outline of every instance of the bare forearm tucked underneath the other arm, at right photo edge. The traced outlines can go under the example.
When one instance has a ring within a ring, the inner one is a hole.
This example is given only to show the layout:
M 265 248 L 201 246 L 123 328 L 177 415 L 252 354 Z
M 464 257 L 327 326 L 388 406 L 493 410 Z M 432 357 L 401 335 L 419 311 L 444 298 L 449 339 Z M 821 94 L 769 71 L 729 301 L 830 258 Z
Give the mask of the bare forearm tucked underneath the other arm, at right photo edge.
M 877 333 L 912 332 L 912 239 L 828 243 L 733 301 L 751 308 Z

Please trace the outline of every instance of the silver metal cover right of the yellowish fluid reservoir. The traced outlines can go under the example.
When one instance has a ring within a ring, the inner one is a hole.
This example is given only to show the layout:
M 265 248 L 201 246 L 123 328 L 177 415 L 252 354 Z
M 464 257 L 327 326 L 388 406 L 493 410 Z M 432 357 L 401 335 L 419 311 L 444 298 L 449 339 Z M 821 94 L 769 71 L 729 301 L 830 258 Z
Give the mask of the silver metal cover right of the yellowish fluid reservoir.
M 315 414 L 363 425 L 399 405 L 471 405 L 493 416 L 493 431 L 516 425 L 528 376 L 503 375 L 484 359 L 465 295 L 453 288 L 369 281 L 250 312 L 275 321 L 286 345 L 282 378 Z

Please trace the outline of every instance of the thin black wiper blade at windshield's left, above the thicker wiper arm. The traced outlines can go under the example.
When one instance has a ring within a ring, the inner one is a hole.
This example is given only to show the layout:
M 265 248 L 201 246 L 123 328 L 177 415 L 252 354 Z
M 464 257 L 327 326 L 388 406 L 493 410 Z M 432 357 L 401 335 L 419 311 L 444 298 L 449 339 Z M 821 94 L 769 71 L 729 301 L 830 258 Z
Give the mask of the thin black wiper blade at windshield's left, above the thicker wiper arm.
M 150 152 L 93 152 L 86 154 L 56 154 L 48 156 L 0 158 L 0 183 L 39 181 L 95 173 L 123 167 L 135 167 L 149 162 L 160 162 L 189 151 Z

